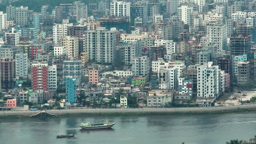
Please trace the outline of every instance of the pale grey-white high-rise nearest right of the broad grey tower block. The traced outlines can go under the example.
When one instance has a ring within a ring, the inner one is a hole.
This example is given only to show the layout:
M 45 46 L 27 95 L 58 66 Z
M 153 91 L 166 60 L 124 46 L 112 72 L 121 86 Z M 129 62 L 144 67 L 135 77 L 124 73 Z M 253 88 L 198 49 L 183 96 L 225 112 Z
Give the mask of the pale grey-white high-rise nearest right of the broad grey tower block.
M 141 41 L 133 42 L 125 46 L 125 64 L 131 64 L 131 60 L 139 56 L 141 47 Z

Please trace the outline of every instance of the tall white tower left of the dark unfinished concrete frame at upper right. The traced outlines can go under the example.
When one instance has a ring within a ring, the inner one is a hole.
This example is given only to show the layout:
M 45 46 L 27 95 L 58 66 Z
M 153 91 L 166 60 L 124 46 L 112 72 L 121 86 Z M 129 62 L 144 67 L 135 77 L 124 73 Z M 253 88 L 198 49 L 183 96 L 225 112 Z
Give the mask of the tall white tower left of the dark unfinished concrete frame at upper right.
M 227 49 L 227 27 L 225 24 L 210 24 L 206 26 L 206 39 L 217 45 L 217 52 Z

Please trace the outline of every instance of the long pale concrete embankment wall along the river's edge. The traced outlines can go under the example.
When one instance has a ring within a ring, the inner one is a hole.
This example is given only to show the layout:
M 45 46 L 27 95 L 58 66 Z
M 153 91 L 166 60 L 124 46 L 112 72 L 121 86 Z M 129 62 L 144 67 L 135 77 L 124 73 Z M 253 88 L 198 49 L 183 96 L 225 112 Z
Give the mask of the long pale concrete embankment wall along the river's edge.
M 256 104 L 240 106 L 222 106 L 208 108 L 127 108 L 127 109 L 79 109 L 79 110 L 47 110 L 57 116 L 64 114 L 116 114 L 116 113 L 203 113 L 228 112 L 236 110 L 256 110 Z M 0 116 L 31 116 L 40 111 L 0 111 Z

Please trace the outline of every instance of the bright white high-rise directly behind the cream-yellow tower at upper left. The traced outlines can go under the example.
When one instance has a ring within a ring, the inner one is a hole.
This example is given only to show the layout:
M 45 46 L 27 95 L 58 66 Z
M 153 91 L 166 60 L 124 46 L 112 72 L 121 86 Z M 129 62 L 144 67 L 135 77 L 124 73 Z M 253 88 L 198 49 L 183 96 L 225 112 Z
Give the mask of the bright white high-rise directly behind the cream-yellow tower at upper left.
M 54 24 L 54 26 L 52 28 L 54 44 L 60 44 L 61 38 L 67 36 L 67 27 L 68 26 L 73 26 L 73 24 Z

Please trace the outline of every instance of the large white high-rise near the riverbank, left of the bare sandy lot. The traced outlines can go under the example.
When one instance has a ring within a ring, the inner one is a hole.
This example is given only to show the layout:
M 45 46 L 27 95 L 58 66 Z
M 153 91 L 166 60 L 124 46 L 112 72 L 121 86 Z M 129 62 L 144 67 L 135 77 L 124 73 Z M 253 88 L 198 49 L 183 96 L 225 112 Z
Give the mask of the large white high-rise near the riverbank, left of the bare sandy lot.
M 199 65 L 197 67 L 197 89 L 198 97 L 203 98 L 217 98 L 220 91 L 220 69 L 219 66 L 212 66 L 213 62 L 208 62 L 208 64 Z

